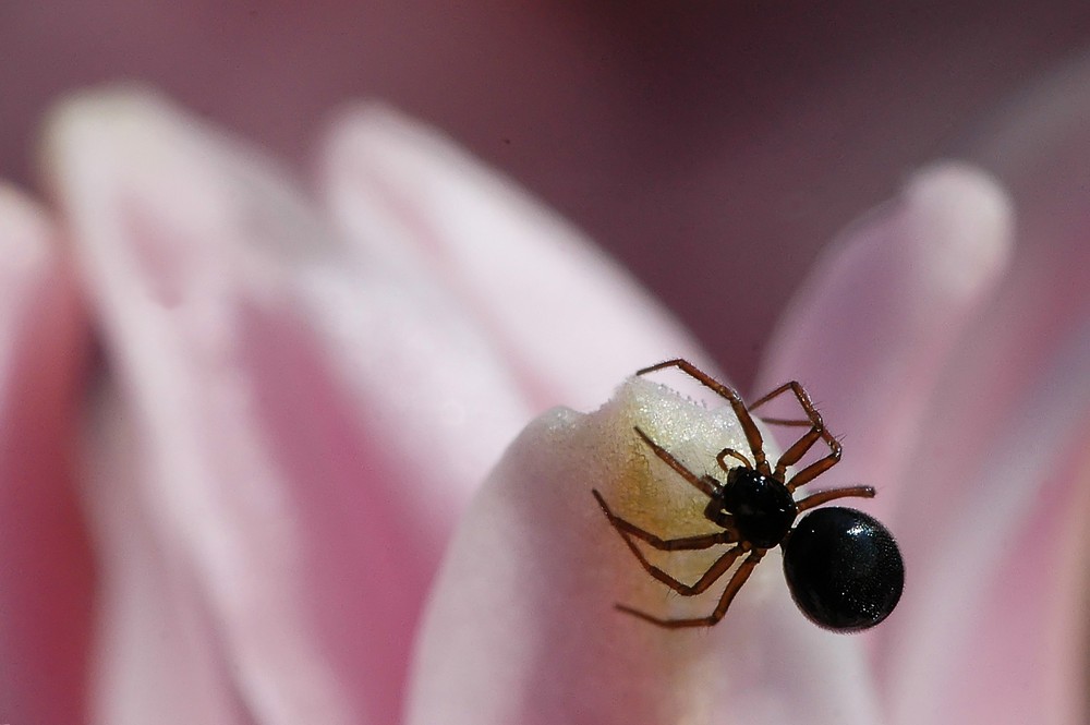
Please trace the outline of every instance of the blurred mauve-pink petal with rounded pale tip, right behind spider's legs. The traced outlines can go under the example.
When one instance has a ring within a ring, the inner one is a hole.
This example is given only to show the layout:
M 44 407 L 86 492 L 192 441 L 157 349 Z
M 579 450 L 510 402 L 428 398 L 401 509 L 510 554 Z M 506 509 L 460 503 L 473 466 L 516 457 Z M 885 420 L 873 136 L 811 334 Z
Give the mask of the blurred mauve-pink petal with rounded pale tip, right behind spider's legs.
M 945 164 L 849 228 L 818 263 L 776 330 L 761 394 L 800 380 L 844 459 L 821 484 L 870 483 L 876 512 L 928 425 L 923 411 L 952 349 L 1006 268 L 1012 210 L 981 171 Z

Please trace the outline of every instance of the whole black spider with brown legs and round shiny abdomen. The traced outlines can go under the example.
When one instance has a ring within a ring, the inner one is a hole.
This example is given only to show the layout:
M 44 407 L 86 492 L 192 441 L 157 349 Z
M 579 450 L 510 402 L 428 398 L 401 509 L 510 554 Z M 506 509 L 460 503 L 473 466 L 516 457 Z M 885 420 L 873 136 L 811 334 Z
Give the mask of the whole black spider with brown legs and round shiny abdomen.
M 747 407 L 737 391 L 686 360 L 668 360 L 644 367 L 637 375 L 666 367 L 681 370 L 725 398 L 738 416 L 749 443 L 752 460 L 734 448 L 724 448 L 716 456 L 716 462 L 726 473 L 724 483 L 712 475 L 697 475 L 646 433 L 635 427 L 635 433 L 655 456 L 708 497 L 704 517 L 722 531 L 682 539 L 662 539 L 618 517 L 597 491 L 593 492 L 594 497 L 640 565 L 678 594 L 695 596 L 706 591 L 738 559 L 742 561 L 727 582 L 715 609 L 706 617 L 662 619 L 623 604 L 616 605 L 617 608 L 668 629 L 710 627 L 723 619 L 738 590 L 762 557 L 771 548 L 780 546 L 784 551 L 784 575 L 791 596 L 799 609 L 815 625 L 850 632 L 868 629 L 885 619 L 897 605 L 905 583 L 905 565 L 897 542 L 888 529 L 876 519 L 851 508 L 823 508 L 799 518 L 803 511 L 836 498 L 874 497 L 872 486 L 849 486 L 795 499 L 796 488 L 810 483 L 840 460 L 840 444 L 825 430 L 821 415 L 803 387 L 794 380 L 785 383 Z M 761 432 L 750 413 L 788 390 L 798 399 L 806 412 L 806 420 L 764 419 L 765 422 L 809 426 L 810 430 L 772 466 L 764 452 Z M 828 455 L 787 479 L 787 467 L 798 463 L 819 440 L 828 446 Z M 730 466 L 728 459 L 731 459 Z M 695 583 L 686 584 L 652 565 L 632 541 L 633 537 L 667 552 L 705 549 L 717 544 L 734 545 Z

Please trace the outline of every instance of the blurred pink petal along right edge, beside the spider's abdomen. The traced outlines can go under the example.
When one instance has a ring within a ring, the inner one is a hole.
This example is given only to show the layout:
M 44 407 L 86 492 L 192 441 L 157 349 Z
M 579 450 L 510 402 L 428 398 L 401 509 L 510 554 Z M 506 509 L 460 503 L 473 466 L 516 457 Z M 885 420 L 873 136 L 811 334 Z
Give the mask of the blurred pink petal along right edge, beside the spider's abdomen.
M 880 632 L 897 722 L 1083 720 L 1090 311 L 1052 327 L 1065 274 L 1013 276 L 899 476 L 911 587 Z

